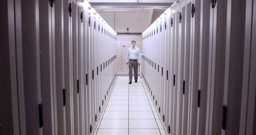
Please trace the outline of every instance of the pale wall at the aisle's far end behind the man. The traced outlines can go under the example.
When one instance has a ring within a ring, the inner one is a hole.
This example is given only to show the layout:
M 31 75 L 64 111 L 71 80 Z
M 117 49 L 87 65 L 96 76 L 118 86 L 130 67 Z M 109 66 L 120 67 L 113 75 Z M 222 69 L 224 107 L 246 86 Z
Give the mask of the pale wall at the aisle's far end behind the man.
M 116 36 L 116 54 L 117 54 L 117 71 L 118 73 L 128 73 L 129 68 L 126 65 L 126 52 L 132 46 L 132 40 L 136 41 L 136 46 L 142 53 L 142 36 L 141 35 L 117 35 Z M 125 45 L 126 47 L 123 47 Z M 140 73 L 140 66 L 138 67 Z

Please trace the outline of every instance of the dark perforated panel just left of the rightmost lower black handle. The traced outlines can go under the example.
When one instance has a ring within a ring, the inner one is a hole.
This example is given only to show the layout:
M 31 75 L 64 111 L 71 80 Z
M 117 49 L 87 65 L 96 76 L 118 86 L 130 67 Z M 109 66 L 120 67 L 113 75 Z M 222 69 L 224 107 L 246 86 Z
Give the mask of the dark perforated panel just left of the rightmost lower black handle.
M 209 7 L 210 8 L 210 7 Z M 215 9 L 215 8 L 214 8 Z M 222 130 L 222 105 L 224 91 L 227 0 L 219 0 L 216 6 L 216 60 L 214 79 L 214 103 L 212 118 L 212 135 L 220 135 Z

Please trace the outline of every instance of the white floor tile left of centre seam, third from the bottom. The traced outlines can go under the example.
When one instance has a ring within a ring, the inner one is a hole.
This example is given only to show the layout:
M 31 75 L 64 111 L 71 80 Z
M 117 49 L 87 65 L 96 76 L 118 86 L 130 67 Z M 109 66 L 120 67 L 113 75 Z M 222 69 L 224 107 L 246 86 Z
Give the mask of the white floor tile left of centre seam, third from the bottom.
M 102 119 L 128 119 L 128 111 L 105 111 Z

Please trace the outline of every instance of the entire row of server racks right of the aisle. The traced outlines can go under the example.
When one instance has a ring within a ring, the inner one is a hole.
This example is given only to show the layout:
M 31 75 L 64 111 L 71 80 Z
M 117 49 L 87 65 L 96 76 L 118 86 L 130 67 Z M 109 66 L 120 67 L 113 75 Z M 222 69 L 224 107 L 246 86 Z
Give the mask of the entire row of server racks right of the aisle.
M 170 135 L 254 135 L 255 2 L 180 0 L 142 33 L 142 77 Z

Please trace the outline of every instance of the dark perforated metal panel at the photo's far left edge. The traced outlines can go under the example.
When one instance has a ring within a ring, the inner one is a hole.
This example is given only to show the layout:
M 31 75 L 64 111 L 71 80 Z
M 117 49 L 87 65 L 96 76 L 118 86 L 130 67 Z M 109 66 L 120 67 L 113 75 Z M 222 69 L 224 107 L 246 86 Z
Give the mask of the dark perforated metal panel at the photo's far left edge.
M 10 77 L 8 0 L 0 4 L 0 135 L 13 135 L 12 91 Z M 14 39 L 14 37 L 10 37 Z

